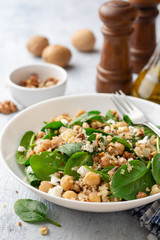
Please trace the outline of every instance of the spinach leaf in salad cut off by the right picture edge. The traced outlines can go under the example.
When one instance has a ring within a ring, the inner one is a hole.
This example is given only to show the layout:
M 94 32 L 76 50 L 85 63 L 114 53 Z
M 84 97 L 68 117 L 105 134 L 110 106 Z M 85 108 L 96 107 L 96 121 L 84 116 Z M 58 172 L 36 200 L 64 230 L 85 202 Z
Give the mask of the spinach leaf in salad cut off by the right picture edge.
M 160 184 L 160 153 L 157 153 L 153 157 L 152 174 L 156 183 Z

